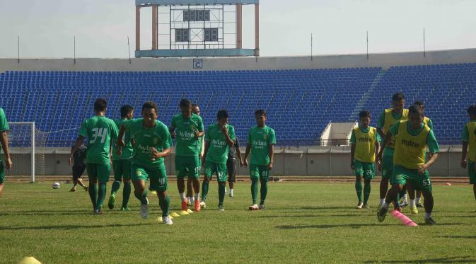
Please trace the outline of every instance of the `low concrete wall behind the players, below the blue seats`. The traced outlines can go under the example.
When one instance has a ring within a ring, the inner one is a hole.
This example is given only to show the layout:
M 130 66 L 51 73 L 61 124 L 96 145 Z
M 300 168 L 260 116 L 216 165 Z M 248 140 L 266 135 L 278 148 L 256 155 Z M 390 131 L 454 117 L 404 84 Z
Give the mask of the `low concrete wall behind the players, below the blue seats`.
M 244 153 L 245 149 L 242 151 Z M 12 154 L 14 169 L 6 171 L 6 175 L 30 175 L 30 154 L 16 153 Z M 45 175 L 65 176 L 71 174 L 71 168 L 68 165 L 69 150 L 52 149 L 47 151 L 44 156 Z M 442 146 L 439 159 L 430 168 L 431 176 L 467 177 L 467 171 L 460 168 L 460 157 L 460 147 Z M 37 168 L 40 168 L 39 158 L 40 156 L 37 155 Z M 168 175 L 174 176 L 174 156 L 166 158 L 165 163 Z M 349 164 L 349 147 L 293 149 L 277 147 L 272 174 L 275 176 L 352 176 Z M 249 175 L 248 168 L 238 166 L 238 175 Z

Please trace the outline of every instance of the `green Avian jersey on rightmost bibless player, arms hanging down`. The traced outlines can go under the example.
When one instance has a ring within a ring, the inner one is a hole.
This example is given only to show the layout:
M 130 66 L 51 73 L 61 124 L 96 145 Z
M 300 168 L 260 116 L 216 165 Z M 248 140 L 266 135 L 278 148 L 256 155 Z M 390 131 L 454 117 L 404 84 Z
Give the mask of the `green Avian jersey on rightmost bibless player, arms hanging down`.
M 271 127 L 251 127 L 248 131 L 248 144 L 251 145 L 250 164 L 268 165 L 269 146 L 276 144 L 276 135 Z

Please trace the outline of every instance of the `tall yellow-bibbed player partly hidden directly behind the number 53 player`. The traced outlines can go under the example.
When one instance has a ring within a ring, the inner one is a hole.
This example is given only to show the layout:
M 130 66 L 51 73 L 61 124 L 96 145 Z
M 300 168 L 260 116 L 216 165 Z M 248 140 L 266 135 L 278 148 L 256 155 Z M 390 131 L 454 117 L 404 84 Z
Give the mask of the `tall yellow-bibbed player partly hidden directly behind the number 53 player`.
M 393 108 L 385 109 L 378 118 L 377 132 L 382 138 L 385 137 L 385 134 L 390 131 L 390 128 L 393 127 L 397 121 L 407 120 L 408 117 L 408 109 L 404 109 L 405 96 L 403 96 L 403 93 L 395 93 L 392 96 L 392 107 Z M 382 180 L 380 183 L 380 203 L 378 207 L 383 205 L 385 195 L 387 194 L 388 190 L 388 180 L 390 179 L 390 176 L 392 176 L 394 143 L 395 142 L 393 140 L 388 142 L 385 149 L 383 149 L 383 159 L 378 163 L 378 170 L 382 171 Z M 395 201 L 395 208 L 400 209 L 398 200 Z

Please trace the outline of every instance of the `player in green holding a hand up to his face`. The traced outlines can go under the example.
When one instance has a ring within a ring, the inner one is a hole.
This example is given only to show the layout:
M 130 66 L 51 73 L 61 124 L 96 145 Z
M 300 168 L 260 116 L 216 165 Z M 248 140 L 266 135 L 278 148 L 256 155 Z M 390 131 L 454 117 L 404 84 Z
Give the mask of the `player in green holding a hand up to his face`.
M 226 160 L 228 148 L 233 147 L 235 129 L 228 125 L 228 112 L 222 109 L 216 114 L 216 124 L 209 125 L 205 132 L 205 151 L 202 166 L 205 168 L 202 183 L 202 207 L 206 207 L 208 187 L 211 177 L 216 173 L 218 181 L 219 204 L 218 209 L 224 211 L 225 186 L 226 186 Z

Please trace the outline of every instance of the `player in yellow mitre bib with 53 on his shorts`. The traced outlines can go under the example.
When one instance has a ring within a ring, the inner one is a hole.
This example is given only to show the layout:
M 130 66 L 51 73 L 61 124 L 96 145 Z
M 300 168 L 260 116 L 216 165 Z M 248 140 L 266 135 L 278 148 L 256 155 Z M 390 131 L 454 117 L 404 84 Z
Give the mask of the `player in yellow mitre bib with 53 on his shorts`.
M 436 224 L 431 217 L 433 210 L 433 195 L 428 168 L 438 158 L 439 146 L 433 131 L 423 123 L 423 110 L 419 105 L 412 105 L 409 109 L 409 120 L 398 121 L 385 134 L 382 146 L 394 138 L 395 154 L 393 156 L 392 188 L 385 197 L 385 202 L 377 212 L 379 222 L 383 222 L 388 212 L 388 205 L 395 200 L 403 185 L 410 183 L 416 190 L 422 190 L 425 208 L 425 223 Z M 429 148 L 429 160 L 425 160 L 425 148 Z M 378 152 L 381 159 L 382 150 Z

